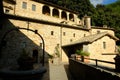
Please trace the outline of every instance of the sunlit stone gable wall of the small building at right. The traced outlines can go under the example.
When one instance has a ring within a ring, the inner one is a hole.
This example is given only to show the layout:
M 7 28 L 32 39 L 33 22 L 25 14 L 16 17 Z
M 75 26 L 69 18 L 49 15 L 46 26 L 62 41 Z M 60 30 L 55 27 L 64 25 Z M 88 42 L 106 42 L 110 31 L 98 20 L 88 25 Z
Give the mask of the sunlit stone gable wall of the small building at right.
M 104 43 L 105 42 L 105 46 Z M 114 39 L 110 38 L 109 36 L 104 36 L 99 40 L 94 41 L 92 44 L 88 44 L 88 51 L 90 52 L 90 58 L 111 61 L 114 62 L 115 57 L 115 41 Z M 105 47 L 105 48 L 104 48 Z M 108 55 L 104 55 L 108 54 Z M 114 54 L 114 55 L 109 55 Z M 91 61 L 91 63 L 95 63 Z M 114 68 L 115 66 L 112 64 L 100 63 L 104 66 L 109 66 Z

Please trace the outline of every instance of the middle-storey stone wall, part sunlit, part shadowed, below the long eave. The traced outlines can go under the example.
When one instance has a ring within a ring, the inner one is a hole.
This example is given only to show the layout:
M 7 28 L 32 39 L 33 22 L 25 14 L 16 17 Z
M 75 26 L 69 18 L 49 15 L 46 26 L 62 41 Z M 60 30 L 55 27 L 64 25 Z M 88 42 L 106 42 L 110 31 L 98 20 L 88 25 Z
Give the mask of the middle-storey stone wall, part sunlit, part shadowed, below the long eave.
M 24 21 L 19 19 L 17 20 L 8 19 L 7 17 L 5 18 L 3 24 L 4 24 L 3 25 L 4 27 L 3 29 L 1 29 L 1 33 L 0 33 L 2 36 L 8 30 L 15 27 L 37 30 L 38 33 L 41 34 L 41 36 L 45 41 L 46 57 L 47 57 L 47 54 L 51 54 L 51 55 L 54 54 L 55 46 L 57 44 L 60 44 L 60 46 L 62 46 L 64 44 L 68 44 L 72 41 L 75 41 L 80 37 L 83 37 L 84 34 L 89 35 L 88 31 L 81 30 L 80 28 L 78 29 L 69 28 L 69 27 L 61 28 L 63 26 L 42 24 L 38 22 Z M 53 34 L 51 32 L 53 32 Z M 65 35 L 64 35 L 64 32 L 66 33 Z M 73 34 L 75 35 L 73 36 Z M 42 41 L 33 32 L 28 30 L 20 30 L 19 32 L 13 31 L 13 32 L 10 32 L 5 39 L 7 41 L 7 44 L 2 49 L 2 59 L 0 62 L 2 66 L 17 64 L 16 59 L 22 52 L 21 49 L 23 48 L 23 46 L 26 46 L 26 49 L 31 56 L 33 54 L 34 49 L 38 50 L 39 52 L 38 62 L 40 62 L 40 56 L 42 53 L 41 51 L 42 49 L 40 48 L 41 46 L 40 43 L 42 43 Z M 64 51 L 61 50 L 61 48 L 60 48 L 60 54 L 63 62 L 68 60 L 67 55 L 64 53 Z

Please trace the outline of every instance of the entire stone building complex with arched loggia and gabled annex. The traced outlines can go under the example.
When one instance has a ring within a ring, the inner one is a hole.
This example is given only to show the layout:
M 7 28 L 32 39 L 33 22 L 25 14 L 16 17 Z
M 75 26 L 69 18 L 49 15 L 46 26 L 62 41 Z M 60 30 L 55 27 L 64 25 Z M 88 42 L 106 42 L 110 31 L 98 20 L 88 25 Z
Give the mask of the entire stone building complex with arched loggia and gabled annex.
M 90 52 L 90 58 L 104 57 L 104 60 L 111 60 L 113 56 L 105 57 L 102 54 L 115 54 L 116 40 L 119 39 L 115 37 L 114 30 L 107 26 L 92 26 L 89 16 L 80 20 L 77 12 L 42 0 L 3 0 L 3 5 L 5 18 L 0 34 L 4 35 L 15 27 L 36 30 L 45 41 L 46 57 L 47 54 L 54 54 L 57 44 L 60 45 L 60 58 L 63 62 L 68 61 L 69 54 L 73 54 L 66 53 L 63 48 L 71 49 L 76 45 Z M 11 64 L 23 47 L 40 61 L 43 43 L 33 32 L 12 31 L 5 40 L 7 46 L 2 49 L 4 59 L 1 64 L 7 61 Z

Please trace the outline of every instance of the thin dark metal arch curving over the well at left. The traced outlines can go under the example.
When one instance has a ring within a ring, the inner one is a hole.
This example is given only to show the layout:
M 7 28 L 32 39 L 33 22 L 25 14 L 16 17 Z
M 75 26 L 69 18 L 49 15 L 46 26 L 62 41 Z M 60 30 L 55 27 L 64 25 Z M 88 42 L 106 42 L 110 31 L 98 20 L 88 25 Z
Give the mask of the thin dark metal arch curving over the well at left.
M 32 30 L 32 29 L 28 29 L 28 28 L 20 28 L 20 27 L 16 27 L 16 28 L 12 28 L 12 29 L 10 29 L 10 30 L 8 30 L 4 35 L 3 35 L 3 37 L 2 37 L 2 39 L 1 39 L 1 43 L 0 43 L 0 52 L 1 52 L 1 50 L 2 50 L 2 47 L 3 47 L 3 45 L 5 45 L 5 37 L 10 33 L 10 32 L 12 32 L 12 31 L 19 31 L 19 30 L 28 30 L 28 31 L 31 31 L 31 32 L 34 32 L 36 35 L 38 35 L 40 38 L 41 38 L 41 40 L 42 40 L 42 43 L 43 43 L 43 56 L 42 56 L 42 66 L 44 66 L 44 58 L 45 58 L 45 42 L 44 42 L 44 39 L 43 39 L 43 37 L 37 32 L 37 30 Z

